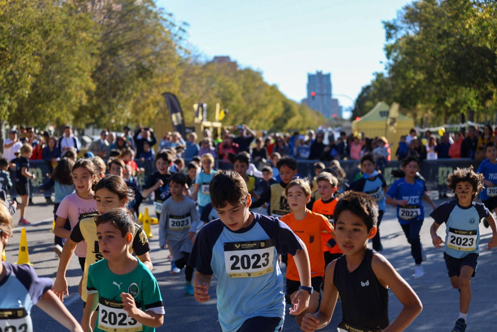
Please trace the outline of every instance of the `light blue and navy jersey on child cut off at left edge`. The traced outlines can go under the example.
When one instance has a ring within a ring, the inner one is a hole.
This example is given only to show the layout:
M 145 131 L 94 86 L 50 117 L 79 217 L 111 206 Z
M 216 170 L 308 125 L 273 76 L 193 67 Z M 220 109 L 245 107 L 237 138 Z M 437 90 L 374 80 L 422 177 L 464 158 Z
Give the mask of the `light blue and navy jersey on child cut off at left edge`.
M 50 278 L 39 278 L 30 265 L 3 262 L 0 280 L 0 331 L 32 332 L 31 308 L 50 290 Z

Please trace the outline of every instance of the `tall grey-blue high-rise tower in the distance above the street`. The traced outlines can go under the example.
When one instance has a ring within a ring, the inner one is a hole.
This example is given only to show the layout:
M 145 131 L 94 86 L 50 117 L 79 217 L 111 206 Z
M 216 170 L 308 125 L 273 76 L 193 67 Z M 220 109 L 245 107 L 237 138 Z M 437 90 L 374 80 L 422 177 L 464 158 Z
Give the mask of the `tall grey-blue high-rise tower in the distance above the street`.
M 331 73 L 316 71 L 316 74 L 307 74 L 307 98 L 302 102 L 325 118 L 331 117 Z

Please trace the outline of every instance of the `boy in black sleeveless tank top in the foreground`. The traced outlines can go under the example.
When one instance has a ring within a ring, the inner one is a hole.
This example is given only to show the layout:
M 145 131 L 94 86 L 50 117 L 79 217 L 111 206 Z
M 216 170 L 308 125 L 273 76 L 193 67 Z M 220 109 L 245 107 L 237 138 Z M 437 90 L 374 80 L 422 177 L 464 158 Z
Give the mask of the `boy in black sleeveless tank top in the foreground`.
M 371 196 L 347 191 L 340 197 L 334 213 L 334 238 L 343 256 L 327 266 L 321 308 L 314 315 L 306 314 L 302 331 L 312 332 L 330 324 L 338 293 L 343 313 L 338 331 L 403 331 L 421 312 L 421 302 L 409 284 L 384 256 L 368 248 L 368 240 L 377 230 L 377 218 L 378 209 Z M 389 289 L 404 305 L 391 324 Z

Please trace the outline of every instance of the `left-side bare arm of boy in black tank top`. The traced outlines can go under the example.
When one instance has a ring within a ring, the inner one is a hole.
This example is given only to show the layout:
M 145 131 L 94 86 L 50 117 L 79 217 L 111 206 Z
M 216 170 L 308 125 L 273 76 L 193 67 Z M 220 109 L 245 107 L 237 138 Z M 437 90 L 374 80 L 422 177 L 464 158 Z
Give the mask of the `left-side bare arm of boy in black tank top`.
M 336 260 L 332 261 L 326 267 L 325 290 L 323 292 L 321 307 L 314 315 L 306 314 L 306 316 L 304 316 L 302 319 L 302 325 L 300 326 L 302 331 L 312 332 L 314 330 L 323 329 L 330 324 L 331 316 L 333 316 L 333 311 L 335 310 L 336 299 L 338 298 L 338 290 L 335 285 L 333 285 L 335 265 Z

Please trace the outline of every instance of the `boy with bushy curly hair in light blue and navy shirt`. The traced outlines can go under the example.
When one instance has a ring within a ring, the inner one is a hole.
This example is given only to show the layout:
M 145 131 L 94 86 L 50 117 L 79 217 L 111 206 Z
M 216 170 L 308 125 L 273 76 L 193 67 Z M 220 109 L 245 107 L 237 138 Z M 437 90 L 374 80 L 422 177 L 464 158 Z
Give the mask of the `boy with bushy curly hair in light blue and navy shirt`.
M 487 151 L 486 151 L 487 152 Z M 471 278 L 475 276 L 480 254 L 479 224 L 487 218 L 493 236 L 488 248 L 497 246 L 497 229 L 494 215 L 483 203 L 476 203 L 475 197 L 484 189 L 483 174 L 475 173 L 473 166 L 457 168 L 447 176 L 447 187 L 452 189 L 456 199 L 442 203 L 430 214 L 435 221 L 430 233 L 433 245 L 441 248 L 445 243 L 443 258 L 452 287 L 459 290 L 459 318 L 452 332 L 466 331 L 467 315 L 471 302 Z M 445 242 L 436 231 L 445 222 Z

